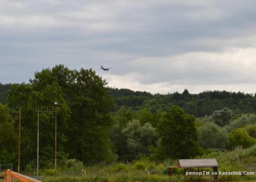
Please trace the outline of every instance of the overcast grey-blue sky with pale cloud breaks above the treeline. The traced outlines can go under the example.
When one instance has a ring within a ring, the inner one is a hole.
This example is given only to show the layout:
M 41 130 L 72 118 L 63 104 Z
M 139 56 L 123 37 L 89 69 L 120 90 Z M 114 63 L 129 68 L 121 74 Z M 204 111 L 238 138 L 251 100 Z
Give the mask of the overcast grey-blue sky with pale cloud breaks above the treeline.
M 135 91 L 256 92 L 255 0 L 0 3 L 1 83 L 64 64 Z

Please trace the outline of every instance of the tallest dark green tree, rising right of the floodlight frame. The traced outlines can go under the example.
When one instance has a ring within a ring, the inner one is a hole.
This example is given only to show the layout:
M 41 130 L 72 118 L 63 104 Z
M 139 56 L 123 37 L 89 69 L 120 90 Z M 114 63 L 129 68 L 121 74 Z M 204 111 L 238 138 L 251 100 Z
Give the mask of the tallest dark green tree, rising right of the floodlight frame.
M 110 159 L 113 120 L 109 111 L 114 108 L 114 99 L 106 93 L 107 82 L 92 69 L 69 70 L 63 65 L 43 69 L 30 79 L 36 91 L 53 82 L 61 87 L 71 111 L 64 151 L 84 162 Z

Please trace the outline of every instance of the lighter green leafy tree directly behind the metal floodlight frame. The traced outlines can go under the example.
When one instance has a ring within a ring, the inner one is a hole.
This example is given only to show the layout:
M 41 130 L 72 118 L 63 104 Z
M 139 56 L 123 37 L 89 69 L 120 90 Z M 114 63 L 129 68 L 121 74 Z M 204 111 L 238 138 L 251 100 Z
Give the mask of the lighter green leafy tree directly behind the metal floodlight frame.
M 21 164 L 24 169 L 29 161 L 36 159 L 37 153 L 37 112 L 36 106 L 53 106 L 59 103 L 57 115 L 57 157 L 65 159 L 68 157 L 63 151 L 66 142 L 65 131 L 69 119 L 69 107 L 63 99 L 61 87 L 56 82 L 47 85 L 40 92 L 34 91 L 30 84 L 12 84 L 7 101 L 12 109 L 15 119 L 15 127 L 19 127 L 19 107 L 21 107 Z M 39 114 L 39 155 L 40 159 L 53 159 L 55 156 L 55 114 Z

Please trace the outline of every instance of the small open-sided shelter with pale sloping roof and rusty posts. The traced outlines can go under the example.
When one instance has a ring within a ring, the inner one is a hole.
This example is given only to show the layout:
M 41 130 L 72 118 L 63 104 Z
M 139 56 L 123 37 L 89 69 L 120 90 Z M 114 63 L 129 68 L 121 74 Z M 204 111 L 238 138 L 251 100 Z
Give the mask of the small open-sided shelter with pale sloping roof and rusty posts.
M 184 181 L 189 182 L 193 175 L 198 181 L 203 181 L 203 168 L 213 168 L 213 181 L 219 181 L 216 159 L 179 159 L 178 166 L 169 167 L 169 181 L 173 182 L 173 168 L 184 168 Z

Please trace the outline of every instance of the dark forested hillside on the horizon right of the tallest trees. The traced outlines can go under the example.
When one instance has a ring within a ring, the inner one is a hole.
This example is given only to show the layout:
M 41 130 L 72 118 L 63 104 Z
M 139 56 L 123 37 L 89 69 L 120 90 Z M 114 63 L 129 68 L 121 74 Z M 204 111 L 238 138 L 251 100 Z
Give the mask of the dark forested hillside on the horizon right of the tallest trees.
M 132 110 L 150 108 L 154 113 L 161 109 L 166 111 L 171 106 L 182 107 L 186 113 L 195 117 L 211 115 L 216 110 L 227 107 L 234 114 L 256 112 L 256 95 L 244 92 L 204 91 L 190 94 L 187 89 L 183 93 L 151 94 L 150 92 L 132 91 L 130 89 L 117 89 L 109 87 L 107 91 L 115 98 L 115 110 L 127 106 Z

